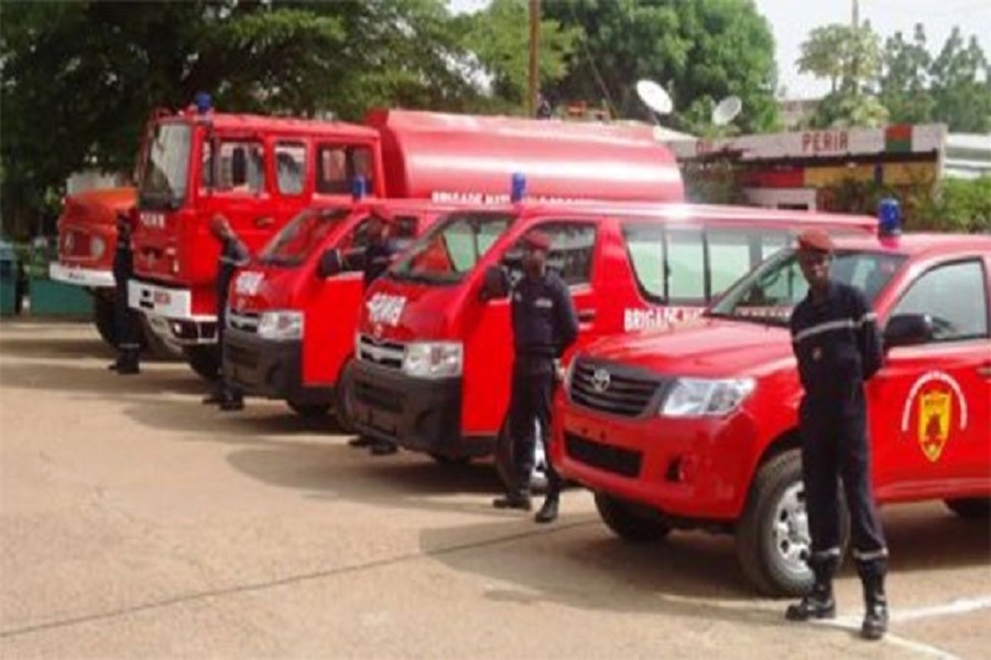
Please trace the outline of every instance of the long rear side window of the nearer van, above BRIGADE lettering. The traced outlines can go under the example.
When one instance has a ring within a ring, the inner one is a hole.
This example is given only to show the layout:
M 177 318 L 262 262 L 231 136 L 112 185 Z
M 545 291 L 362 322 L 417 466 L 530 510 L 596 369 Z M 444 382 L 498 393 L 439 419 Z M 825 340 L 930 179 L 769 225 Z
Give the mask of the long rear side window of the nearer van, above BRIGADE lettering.
M 627 254 L 640 290 L 655 304 L 704 305 L 788 242 L 766 228 L 623 224 Z

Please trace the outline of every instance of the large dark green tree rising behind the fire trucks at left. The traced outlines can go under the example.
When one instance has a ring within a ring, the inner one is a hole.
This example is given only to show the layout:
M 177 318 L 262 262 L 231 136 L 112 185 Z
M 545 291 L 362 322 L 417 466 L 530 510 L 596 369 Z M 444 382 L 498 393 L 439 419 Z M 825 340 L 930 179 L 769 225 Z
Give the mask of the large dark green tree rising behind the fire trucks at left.
M 478 92 L 443 0 L 4 2 L 4 222 L 66 177 L 131 168 L 155 107 L 359 118 L 372 105 L 469 108 Z

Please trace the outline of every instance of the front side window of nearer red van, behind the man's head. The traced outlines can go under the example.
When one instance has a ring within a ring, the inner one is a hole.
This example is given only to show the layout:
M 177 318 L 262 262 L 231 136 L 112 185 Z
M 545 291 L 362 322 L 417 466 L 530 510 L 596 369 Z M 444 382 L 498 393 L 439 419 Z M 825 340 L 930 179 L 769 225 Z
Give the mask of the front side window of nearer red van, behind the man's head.
M 547 267 L 558 274 L 568 286 L 591 282 L 592 257 L 596 246 L 596 228 L 588 222 L 555 221 L 541 224 L 530 231 L 541 231 L 551 237 Z M 526 232 L 530 233 L 530 232 Z M 524 234 L 525 235 L 525 234 Z M 507 250 L 502 257 L 509 268 L 510 282 L 522 276 L 520 260 L 523 254 L 522 238 Z

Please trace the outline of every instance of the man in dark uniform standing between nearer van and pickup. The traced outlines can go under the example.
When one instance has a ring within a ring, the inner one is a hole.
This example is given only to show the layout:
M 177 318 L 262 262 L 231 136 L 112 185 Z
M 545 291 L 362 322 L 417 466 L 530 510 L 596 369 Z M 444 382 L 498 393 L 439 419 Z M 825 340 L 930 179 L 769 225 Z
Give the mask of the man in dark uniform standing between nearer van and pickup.
M 530 510 L 530 474 L 536 443 L 534 422 L 541 425 L 544 447 L 551 431 L 551 400 L 559 380 L 558 359 L 578 337 L 578 315 L 567 285 L 547 270 L 551 238 L 533 231 L 523 238 L 523 277 L 511 292 L 513 374 L 509 433 L 513 447 L 515 484 L 492 502 L 496 508 Z M 537 522 L 557 518 L 560 476 L 547 457 L 547 495 Z

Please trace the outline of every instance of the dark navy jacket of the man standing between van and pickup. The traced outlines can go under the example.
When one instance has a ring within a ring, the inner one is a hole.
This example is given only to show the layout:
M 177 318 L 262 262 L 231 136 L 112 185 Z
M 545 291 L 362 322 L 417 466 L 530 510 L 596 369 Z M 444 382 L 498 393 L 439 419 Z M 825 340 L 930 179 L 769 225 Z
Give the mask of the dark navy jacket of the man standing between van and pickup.
M 513 348 L 516 355 L 559 358 L 578 338 L 578 315 L 567 285 L 552 272 L 523 276 L 512 294 Z

